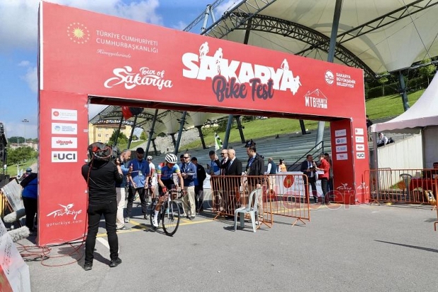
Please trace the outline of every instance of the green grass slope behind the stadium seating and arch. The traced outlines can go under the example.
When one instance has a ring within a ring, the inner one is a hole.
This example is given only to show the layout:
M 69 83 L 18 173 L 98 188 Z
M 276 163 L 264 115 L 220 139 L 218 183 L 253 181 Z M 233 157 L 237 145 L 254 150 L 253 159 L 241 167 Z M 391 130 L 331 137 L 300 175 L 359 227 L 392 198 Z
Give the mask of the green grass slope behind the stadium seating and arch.
M 411 92 L 408 95 L 409 105 L 412 106 L 420 98 L 425 90 L 419 90 L 417 92 Z M 379 118 L 386 118 L 391 116 L 398 116 L 403 113 L 403 104 L 401 102 L 400 95 L 388 95 L 385 97 L 377 97 L 374 99 L 369 99 L 365 101 L 365 107 L 367 108 L 367 114 L 372 120 Z M 304 121 L 304 125 L 308 130 L 316 130 L 318 128 L 317 121 Z M 244 126 L 244 137 L 245 139 L 258 139 L 274 135 L 290 134 L 290 133 L 301 133 L 300 121 L 292 120 L 290 118 L 267 118 L 264 120 L 254 120 L 247 123 L 242 123 Z M 326 127 L 329 123 L 326 123 Z M 225 132 L 218 131 L 217 127 L 202 129 L 206 145 L 214 145 L 214 131 L 217 131 L 220 138 L 225 137 Z M 234 123 L 233 128 L 230 132 L 229 143 L 240 142 L 239 130 Z M 190 142 L 187 145 L 180 145 L 179 149 L 192 149 L 201 147 L 201 140 L 196 140 Z

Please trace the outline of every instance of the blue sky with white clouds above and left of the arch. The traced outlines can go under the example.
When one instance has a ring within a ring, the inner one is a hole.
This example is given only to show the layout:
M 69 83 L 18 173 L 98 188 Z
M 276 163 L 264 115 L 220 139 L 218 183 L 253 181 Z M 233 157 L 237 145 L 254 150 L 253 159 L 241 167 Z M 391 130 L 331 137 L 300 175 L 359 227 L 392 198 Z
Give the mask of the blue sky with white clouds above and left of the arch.
M 215 0 L 51 0 L 49 2 L 182 30 Z M 223 1 L 221 12 L 239 1 Z M 6 137 L 37 138 L 38 0 L 0 0 L 0 122 Z M 191 32 L 199 33 L 201 23 Z M 211 20 L 209 23 L 211 24 Z M 27 120 L 28 122 L 23 122 Z

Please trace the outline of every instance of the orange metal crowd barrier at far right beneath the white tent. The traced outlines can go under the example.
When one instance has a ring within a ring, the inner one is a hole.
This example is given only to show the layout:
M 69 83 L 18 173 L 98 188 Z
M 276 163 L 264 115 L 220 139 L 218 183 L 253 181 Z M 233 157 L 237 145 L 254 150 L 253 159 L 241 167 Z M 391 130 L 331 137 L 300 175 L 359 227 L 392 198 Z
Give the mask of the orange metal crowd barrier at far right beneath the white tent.
M 437 169 L 371 169 L 370 202 L 436 205 L 437 182 Z

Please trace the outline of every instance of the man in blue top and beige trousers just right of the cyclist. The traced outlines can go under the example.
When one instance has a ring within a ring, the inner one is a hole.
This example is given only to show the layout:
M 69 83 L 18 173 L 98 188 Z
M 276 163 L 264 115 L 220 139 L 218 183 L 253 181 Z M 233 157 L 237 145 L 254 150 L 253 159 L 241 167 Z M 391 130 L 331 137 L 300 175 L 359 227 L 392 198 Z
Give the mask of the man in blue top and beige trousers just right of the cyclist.
M 184 209 L 190 210 L 190 217 L 187 214 L 187 218 L 193 220 L 196 214 L 195 205 L 195 179 L 196 179 L 196 166 L 190 161 L 190 154 L 184 154 L 184 164 L 182 164 L 181 176 L 184 179 L 184 190 L 187 195 L 182 197 Z

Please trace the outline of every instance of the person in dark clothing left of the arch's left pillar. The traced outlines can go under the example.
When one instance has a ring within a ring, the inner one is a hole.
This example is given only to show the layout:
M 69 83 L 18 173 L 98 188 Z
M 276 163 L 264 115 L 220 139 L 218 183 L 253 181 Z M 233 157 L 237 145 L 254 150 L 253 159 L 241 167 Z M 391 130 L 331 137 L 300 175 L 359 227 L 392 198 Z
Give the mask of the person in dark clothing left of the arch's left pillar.
M 26 170 L 27 171 L 27 170 Z M 38 175 L 35 173 L 28 173 L 27 176 L 20 182 L 23 187 L 21 197 L 23 197 L 24 211 L 26 214 L 26 226 L 31 235 L 35 235 L 34 221 L 35 214 L 38 209 Z

